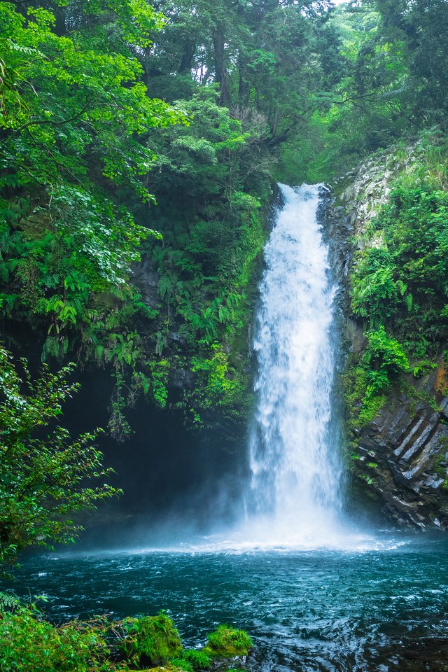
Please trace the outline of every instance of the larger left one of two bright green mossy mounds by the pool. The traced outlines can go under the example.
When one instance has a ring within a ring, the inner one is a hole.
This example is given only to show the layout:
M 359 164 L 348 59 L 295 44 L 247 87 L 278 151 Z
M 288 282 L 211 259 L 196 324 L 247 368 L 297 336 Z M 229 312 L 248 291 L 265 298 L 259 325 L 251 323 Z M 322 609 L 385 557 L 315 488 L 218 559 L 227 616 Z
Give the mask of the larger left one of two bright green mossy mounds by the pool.
M 167 612 L 130 619 L 128 623 L 129 634 L 122 644 L 128 658 L 137 657 L 141 664 L 160 666 L 181 656 L 181 638 Z M 165 666 L 165 670 L 170 667 Z

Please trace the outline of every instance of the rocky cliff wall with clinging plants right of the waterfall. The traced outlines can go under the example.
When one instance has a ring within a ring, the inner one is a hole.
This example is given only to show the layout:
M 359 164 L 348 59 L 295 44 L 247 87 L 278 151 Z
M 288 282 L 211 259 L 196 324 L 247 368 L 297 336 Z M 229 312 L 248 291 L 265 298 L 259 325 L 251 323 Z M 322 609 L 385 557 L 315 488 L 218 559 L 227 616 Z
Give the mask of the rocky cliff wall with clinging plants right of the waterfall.
M 364 503 L 370 500 L 388 521 L 403 528 L 448 529 L 447 329 L 441 318 L 446 295 L 438 305 L 435 291 L 428 288 L 431 294 L 426 302 L 420 300 L 420 309 L 414 305 L 407 311 L 401 303 L 411 303 L 406 297 L 412 283 L 404 278 L 396 295 L 388 286 L 381 288 L 384 317 L 374 316 L 368 309 L 360 315 L 356 297 L 366 259 L 373 263 L 380 253 L 395 254 L 391 235 L 381 228 L 381 213 L 397 199 L 396 190 L 417 194 L 415 199 L 424 198 L 418 190 L 424 195 L 432 189 L 439 200 L 446 196 L 445 148 L 446 138 L 436 132 L 430 141 L 417 139 L 407 146 L 377 153 L 335 184 L 325 217 L 332 265 L 342 281 L 339 305 L 344 317 L 345 361 L 341 388 L 346 402 L 351 498 Z M 414 204 L 414 210 L 416 207 Z M 427 229 L 437 215 L 443 219 L 440 236 L 443 232 L 446 235 L 448 221 L 444 214 L 446 210 L 430 207 L 425 215 Z M 397 210 L 398 227 L 400 216 Z M 391 222 L 393 225 L 393 216 Z M 395 238 L 404 240 L 406 232 Z M 415 260 L 419 262 L 423 252 L 417 244 L 415 247 Z M 393 259 L 398 259 L 398 253 Z M 407 261 L 407 267 L 410 263 Z M 389 280 L 396 287 L 400 269 L 398 262 L 393 264 Z M 384 266 L 374 268 L 379 273 Z M 446 283 L 447 278 L 440 281 Z M 430 319 L 429 305 L 433 310 Z M 368 308 L 367 303 L 365 306 Z M 383 341 L 386 335 L 389 349 L 393 346 L 396 351 L 395 358 L 400 349 L 406 365 L 397 365 L 395 370 L 389 366 L 386 384 L 372 393 L 372 383 L 377 384 L 387 367 L 384 362 L 388 353 L 383 350 L 378 354 L 372 349 L 378 334 Z M 421 343 L 426 344 L 424 352 Z

